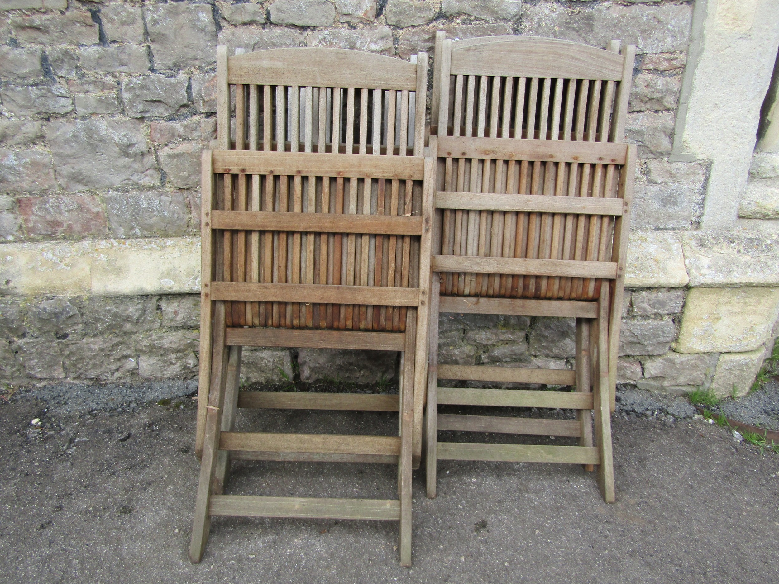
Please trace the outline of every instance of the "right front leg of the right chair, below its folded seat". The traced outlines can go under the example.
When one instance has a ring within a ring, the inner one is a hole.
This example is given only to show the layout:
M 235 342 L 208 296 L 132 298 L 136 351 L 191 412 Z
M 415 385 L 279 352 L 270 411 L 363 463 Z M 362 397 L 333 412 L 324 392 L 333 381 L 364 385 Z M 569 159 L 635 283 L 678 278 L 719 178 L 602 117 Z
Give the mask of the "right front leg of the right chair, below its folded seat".
M 607 288 L 603 290 L 602 288 Z M 612 412 L 609 399 L 608 383 L 608 285 L 601 288 L 597 327 L 597 350 L 594 351 L 597 360 L 597 371 L 594 378 L 595 405 L 595 435 L 597 448 L 600 451 L 601 463 L 597 466 L 597 483 L 601 487 L 603 500 L 607 503 L 615 501 L 614 491 L 614 459 L 612 455 Z

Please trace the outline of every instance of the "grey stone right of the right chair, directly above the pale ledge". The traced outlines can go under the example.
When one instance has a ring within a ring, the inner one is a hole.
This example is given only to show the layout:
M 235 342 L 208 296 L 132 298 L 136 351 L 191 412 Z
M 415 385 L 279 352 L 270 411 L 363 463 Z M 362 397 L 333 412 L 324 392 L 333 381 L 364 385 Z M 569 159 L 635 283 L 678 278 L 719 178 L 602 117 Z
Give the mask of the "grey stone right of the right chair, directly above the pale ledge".
M 666 183 L 636 185 L 631 227 L 635 229 L 689 229 L 703 213 L 704 193 L 696 187 Z

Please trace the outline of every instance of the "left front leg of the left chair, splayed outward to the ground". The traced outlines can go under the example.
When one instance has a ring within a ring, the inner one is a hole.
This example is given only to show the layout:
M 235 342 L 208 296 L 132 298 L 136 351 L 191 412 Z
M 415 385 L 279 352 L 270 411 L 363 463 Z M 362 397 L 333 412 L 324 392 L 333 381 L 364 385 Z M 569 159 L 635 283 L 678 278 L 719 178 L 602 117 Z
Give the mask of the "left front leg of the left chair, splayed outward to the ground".
M 213 322 L 213 361 L 211 384 L 206 406 L 206 432 L 203 437 L 203 458 L 200 461 L 200 478 L 195 500 L 195 516 L 192 524 L 192 541 L 189 559 L 197 564 L 203 558 L 208 541 L 210 518 L 208 515 L 211 480 L 219 453 L 219 435 L 224 406 L 227 359 L 224 348 L 224 302 L 217 302 Z

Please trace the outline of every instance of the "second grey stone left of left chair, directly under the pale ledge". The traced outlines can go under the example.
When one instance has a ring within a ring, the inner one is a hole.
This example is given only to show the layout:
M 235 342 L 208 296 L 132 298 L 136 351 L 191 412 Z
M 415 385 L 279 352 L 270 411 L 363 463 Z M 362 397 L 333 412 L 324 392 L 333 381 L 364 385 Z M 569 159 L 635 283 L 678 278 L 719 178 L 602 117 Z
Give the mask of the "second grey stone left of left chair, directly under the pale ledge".
M 69 299 L 81 314 L 86 336 L 115 335 L 160 328 L 153 296 L 84 296 Z

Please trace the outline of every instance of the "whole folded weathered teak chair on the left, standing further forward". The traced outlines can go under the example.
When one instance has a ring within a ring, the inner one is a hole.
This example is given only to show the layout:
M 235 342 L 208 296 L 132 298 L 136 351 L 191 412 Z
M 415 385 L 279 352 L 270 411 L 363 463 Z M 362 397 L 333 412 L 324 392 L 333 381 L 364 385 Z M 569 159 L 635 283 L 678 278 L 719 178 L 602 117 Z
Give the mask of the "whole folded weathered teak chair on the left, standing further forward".
M 424 100 L 409 123 L 410 93 L 426 91 L 426 55 L 418 61 L 340 49 L 231 58 L 217 50 L 220 150 L 203 154 L 192 561 L 203 556 L 211 515 L 246 515 L 400 521 L 400 561 L 411 564 L 435 169 L 434 157 L 421 156 Z M 244 346 L 401 351 L 400 396 L 238 392 Z M 400 431 L 238 433 L 237 407 L 398 411 Z M 399 500 L 224 495 L 231 459 L 397 463 Z

